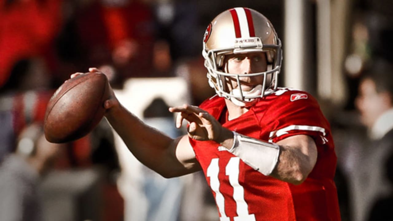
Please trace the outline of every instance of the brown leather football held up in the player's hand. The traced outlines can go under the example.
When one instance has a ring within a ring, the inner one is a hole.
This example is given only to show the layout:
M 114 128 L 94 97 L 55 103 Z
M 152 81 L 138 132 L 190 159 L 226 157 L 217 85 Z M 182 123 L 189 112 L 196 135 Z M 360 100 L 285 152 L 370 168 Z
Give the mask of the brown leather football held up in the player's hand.
M 64 82 L 46 108 L 46 140 L 64 143 L 88 134 L 103 118 L 103 105 L 108 98 L 109 84 L 105 74 L 81 74 Z

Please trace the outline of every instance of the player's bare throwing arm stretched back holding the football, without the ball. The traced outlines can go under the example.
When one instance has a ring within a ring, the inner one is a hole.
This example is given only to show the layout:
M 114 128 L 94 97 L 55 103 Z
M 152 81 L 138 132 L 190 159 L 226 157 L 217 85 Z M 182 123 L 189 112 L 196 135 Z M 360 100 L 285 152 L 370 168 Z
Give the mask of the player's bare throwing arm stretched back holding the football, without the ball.
M 99 72 L 96 68 L 90 68 L 89 71 Z M 178 177 L 201 169 L 187 135 L 172 139 L 146 125 L 119 103 L 112 88 L 110 98 L 104 102 L 104 107 L 107 109 L 105 117 L 110 125 L 131 153 L 145 166 L 166 178 Z

